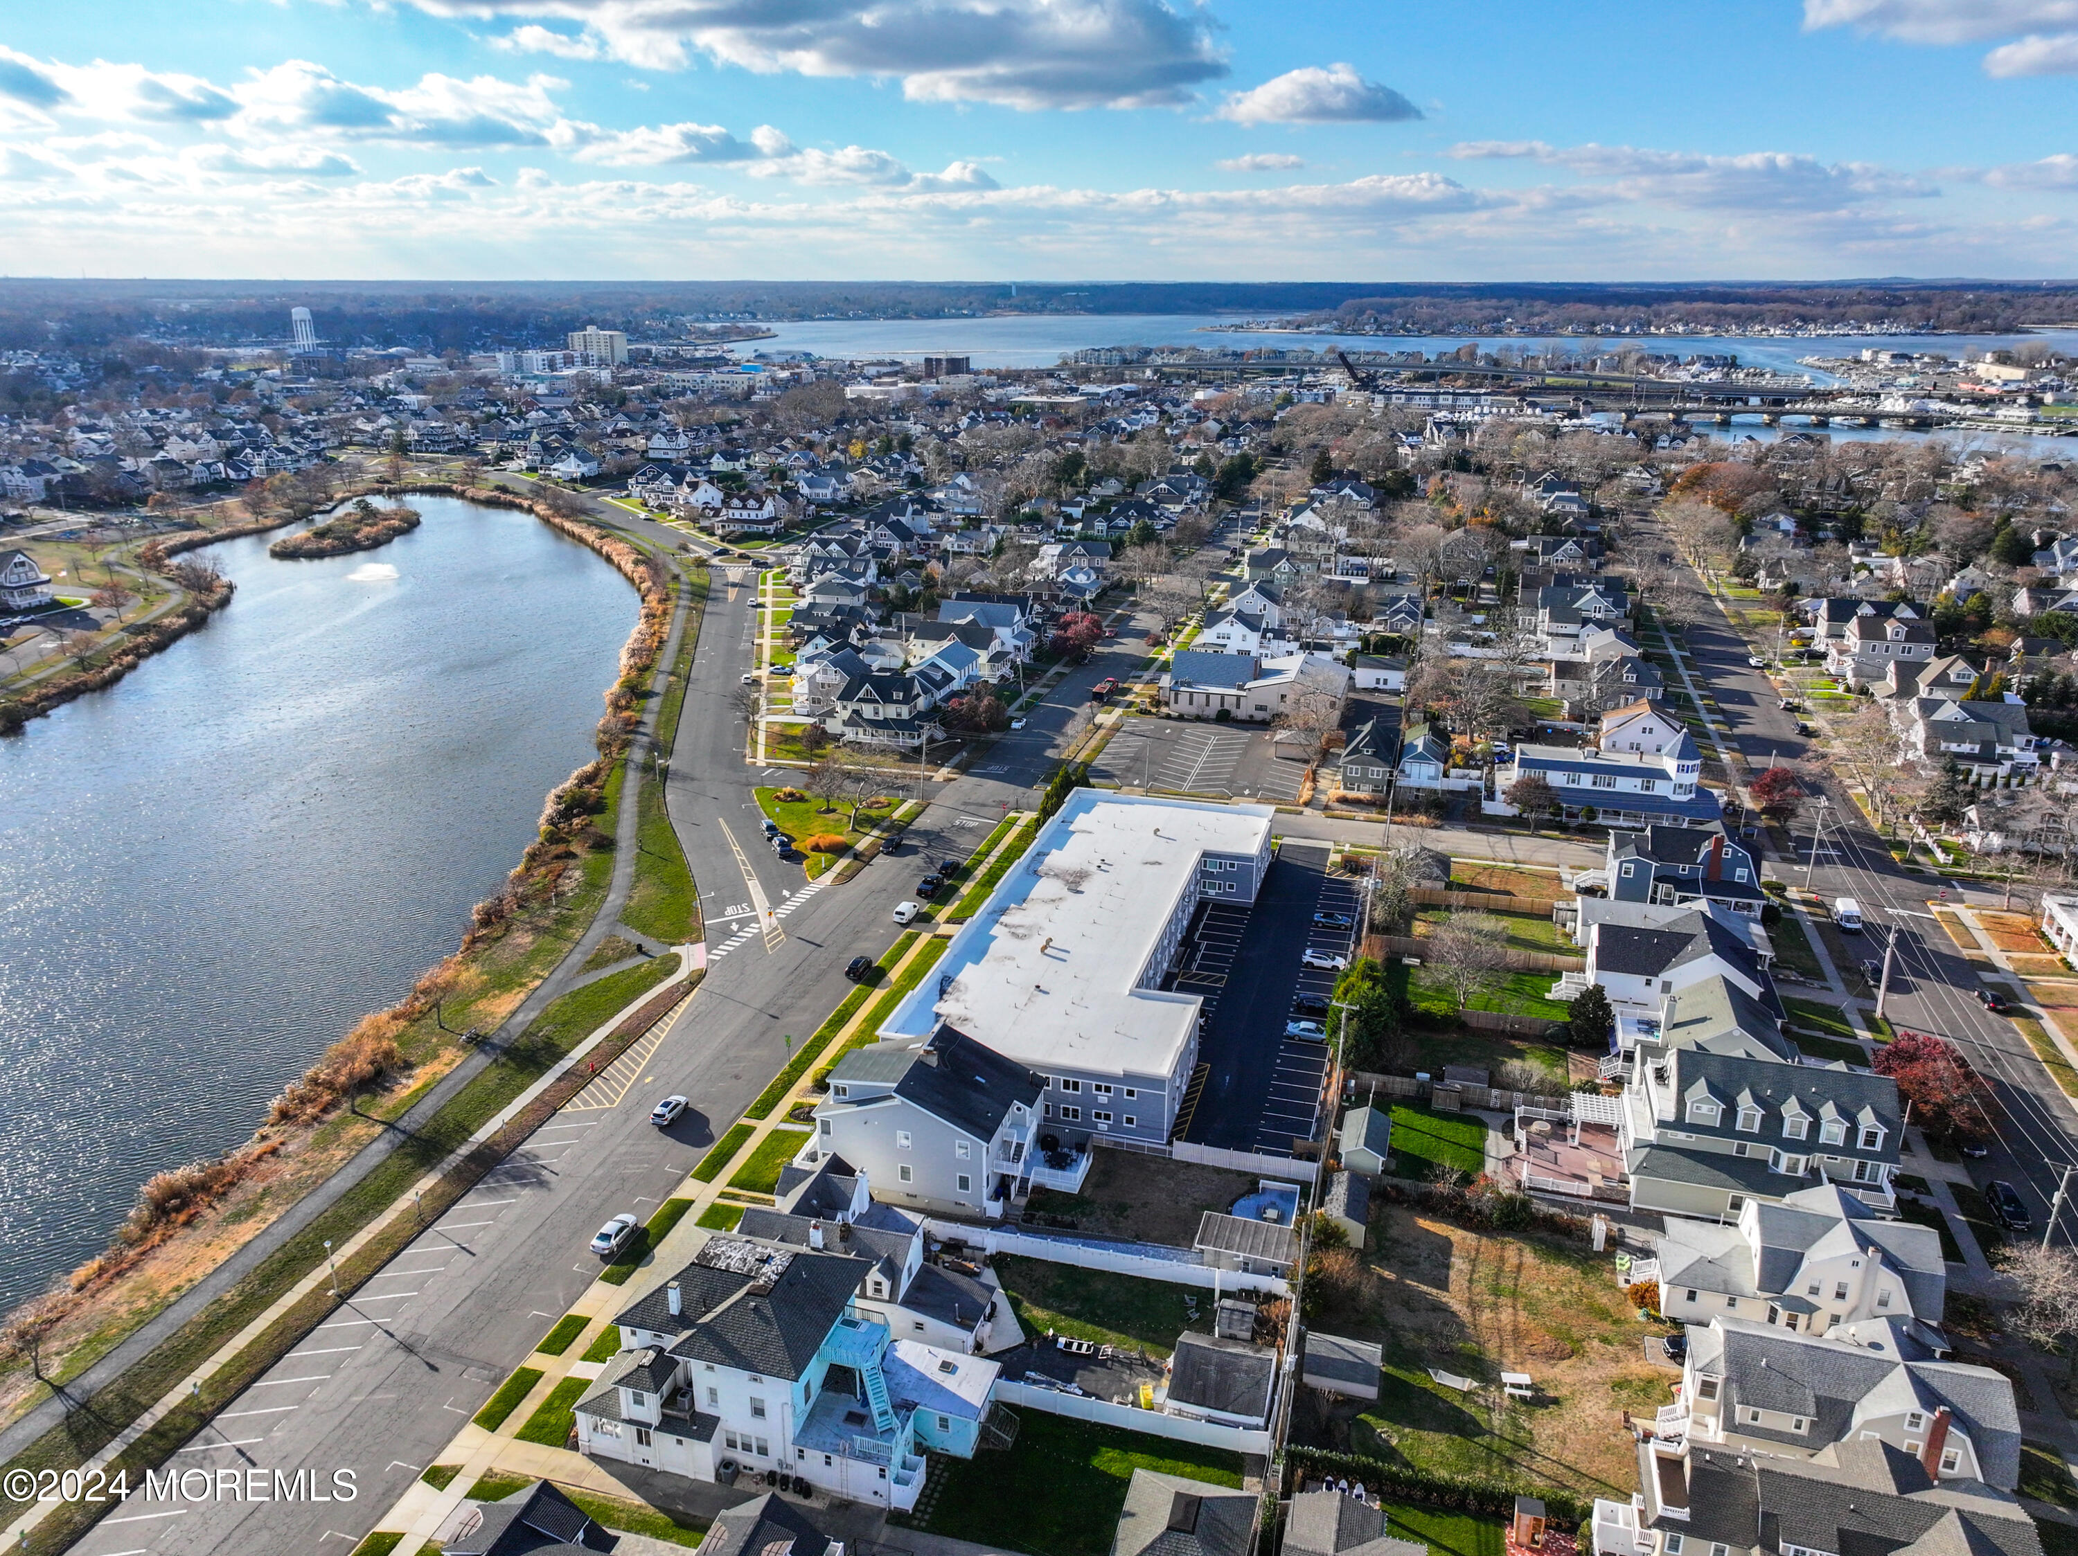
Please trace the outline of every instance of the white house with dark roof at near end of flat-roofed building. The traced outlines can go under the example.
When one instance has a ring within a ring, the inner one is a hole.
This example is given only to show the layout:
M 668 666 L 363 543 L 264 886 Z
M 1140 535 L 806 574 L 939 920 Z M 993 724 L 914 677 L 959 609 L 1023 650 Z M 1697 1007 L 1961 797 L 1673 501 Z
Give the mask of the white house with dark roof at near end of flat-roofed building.
M 1000 1217 L 1039 1161 L 1045 1078 L 941 1022 L 927 1039 L 852 1049 L 815 1107 L 815 1151 L 858 1163 L 881 1199 Z

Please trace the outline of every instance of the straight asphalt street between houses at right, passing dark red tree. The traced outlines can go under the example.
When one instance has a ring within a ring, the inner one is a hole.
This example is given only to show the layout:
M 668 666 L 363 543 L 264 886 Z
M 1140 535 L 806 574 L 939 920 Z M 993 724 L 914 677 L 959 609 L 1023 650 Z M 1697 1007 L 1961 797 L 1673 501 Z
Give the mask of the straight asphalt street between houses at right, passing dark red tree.
M 1783 694 L 1764 671 L 1746 663 L 1748 646 L 1729 621 L 1712 609 L 1685 634 L 1685 644 L 1696 679 L 1708 681 L 1731 721 L 1729 740 L 1748 762 L 1758 769 L 1773 756 L 1795 760 L 1808 754 L 1810 742 L 1795 731 L 1797 715 L 1777 708 Z M 1831 779 L 1827 796 L 1829 816 L 1835 823 L 1827 829 L 1831 848 L 1820 850 L 1810 870 L 1810 885 L 1827 902 L 1854 897 L 1862 906 L 1868 920 L 1868 931 L 1862 935 L 1864 956 L 1881 960 L 1885 937 L 1897 931 L 1897 960 L 1885 1016 L 1895 1026 L 1953 1039 L 1991 1082 L 1999 1103 L 1993 1120 L 1999 1138 L 1989 1159 L 1970 1163 L 1970 1176 L 1978 1186 L 1993 1178 L 2016 1184 L 2039 1234 L 2063 1165 L 2078 1161 L 2078 1116 L 2020 1030 L 1978 1003 L 1974 991 L 1982 985 L 1976 970 L 1928 912 L 1926 900 L 1941 883 L 1933 875 L 1901 868 Z M 1777 862 L 1768 875 L 1804 881 L 1810 829 L 1806 810 L 1795 827 L 1797 860 Z M 1854 968 L 1841 968 L 1841 974 L 1849 989 L 1856 987 Z M 2066 1207 L 2059 1236 L 2074 1234 L 2078 1219 Z

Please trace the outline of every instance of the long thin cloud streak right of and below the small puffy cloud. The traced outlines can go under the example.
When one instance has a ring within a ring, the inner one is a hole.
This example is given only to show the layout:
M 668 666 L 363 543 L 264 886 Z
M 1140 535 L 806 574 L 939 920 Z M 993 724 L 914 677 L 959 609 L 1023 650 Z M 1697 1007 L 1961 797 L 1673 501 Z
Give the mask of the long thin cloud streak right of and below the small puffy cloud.
M 1637 145 L 1550 145 L 1546 141 L 1461 141 L 1446 156 L 1461 162 L 1527 160 L 1583 179 L 1613 179 L 1627 199 L 1691 210 L 1822 212 L 1872 199 L 1926 199 L 1928 181 L 1870 162 L 1820 162 L 1789 152 L 1654 152 Z

